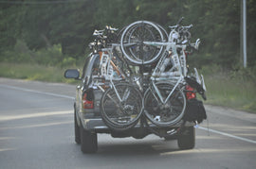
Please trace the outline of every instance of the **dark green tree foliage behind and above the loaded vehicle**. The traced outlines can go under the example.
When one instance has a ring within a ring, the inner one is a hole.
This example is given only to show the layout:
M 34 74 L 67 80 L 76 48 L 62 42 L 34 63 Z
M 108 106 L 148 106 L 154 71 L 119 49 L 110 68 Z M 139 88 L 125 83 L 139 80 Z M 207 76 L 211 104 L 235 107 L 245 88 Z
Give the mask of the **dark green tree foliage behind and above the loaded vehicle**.
M 73 64 L 73 59 L 79 60 L 84 53 L 88 53 L 87 46 L 92 41 L 94 29 L 101 29 L 104 25 L 121 28 L 137 20 L 150 20 L 168 30 L 168 25 L 175 25 L 184 16 L 184 25 L 193 24 L 194 40 L 200 38 L 202 41 L 200 51 L 192 56 L 190 64 L 219 64 L 229 69 L 242 65 L 241 1 L 238 0 L 81 0 L 74 3 L 33 0 L 30 4 L 31 1 L 28 0 L 15 2 L 19 3 L 0 4 L 1 61 L 31 60 L 49 65 L 64 61 L 64 64 Z M 256 1 L 247 0 L 249 67 L 256 64 L 253 53 L 256 42 L 255 6 Z M 17 52 L 15 46 L 20 42 L 25 42 L 26 51 L 14 55 L 12 52 Z M 57 48 L 62 49 L 62 54 L 57 52 Z M 46 52 L 46 56 L 43 52 Z M 52 56 L 47 57 L 48 55 Z

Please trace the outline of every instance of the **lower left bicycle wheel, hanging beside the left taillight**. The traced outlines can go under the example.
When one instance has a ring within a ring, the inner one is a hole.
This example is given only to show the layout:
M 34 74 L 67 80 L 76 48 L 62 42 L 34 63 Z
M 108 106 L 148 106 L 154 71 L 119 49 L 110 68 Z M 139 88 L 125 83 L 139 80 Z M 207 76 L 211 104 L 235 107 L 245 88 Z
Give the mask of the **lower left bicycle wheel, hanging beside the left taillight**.
M 134 127 L 142 114 L 142 95 L 128 83 L 119 83 L 115 88 L 119 96 L 112 87 L 101 97 L 101 117 L 106 126 L 115 130 Z

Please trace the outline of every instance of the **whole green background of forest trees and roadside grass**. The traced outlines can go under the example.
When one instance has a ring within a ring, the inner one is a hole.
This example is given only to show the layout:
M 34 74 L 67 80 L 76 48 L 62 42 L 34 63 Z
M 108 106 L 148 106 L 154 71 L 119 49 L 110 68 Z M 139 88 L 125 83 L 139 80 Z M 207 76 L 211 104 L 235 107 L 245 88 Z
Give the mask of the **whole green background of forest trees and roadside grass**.
M 169 31 L 184 17 L 193 41 L 201 39 L 188 62 L 205 74 L 208 102 L 256 111 L 256 1 L 247 0 L 246 69 L 241 6 L 242 0 L 0 0 L 0 76 L 64 81 L 64 69 L 82 67 L 94 29 L 148 20 Z

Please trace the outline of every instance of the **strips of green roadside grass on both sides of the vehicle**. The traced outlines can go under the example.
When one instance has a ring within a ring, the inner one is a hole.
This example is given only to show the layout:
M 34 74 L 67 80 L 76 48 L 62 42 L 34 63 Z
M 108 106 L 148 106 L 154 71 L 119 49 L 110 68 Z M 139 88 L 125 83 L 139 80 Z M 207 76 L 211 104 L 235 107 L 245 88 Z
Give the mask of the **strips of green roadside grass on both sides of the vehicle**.
M 0 62 L 0 76 L 40 80 L 46 82 L 77 83 L 64 78 L 64 68 L 46 67 L 38 64 Z M 256 113 L 256 75 L 252 73 L 227 72 L 218 66 L 203 68 L 208 100 L 205 104 L 247 110 Z M 200 96 L 199 96 L 200 97 Z

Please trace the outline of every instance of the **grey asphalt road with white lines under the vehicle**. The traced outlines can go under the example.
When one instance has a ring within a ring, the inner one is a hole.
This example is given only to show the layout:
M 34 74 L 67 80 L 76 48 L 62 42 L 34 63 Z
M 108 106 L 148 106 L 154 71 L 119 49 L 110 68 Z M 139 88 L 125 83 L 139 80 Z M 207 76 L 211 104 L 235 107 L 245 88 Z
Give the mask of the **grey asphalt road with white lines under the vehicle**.
M 74 96 L 74 85 L 0 78 L 0 168 L 256 168 L 256 115 L 211 106 L 192 150 L 155 135 L 98 134 L 98 153 L 84 155 L 74 142 Z

